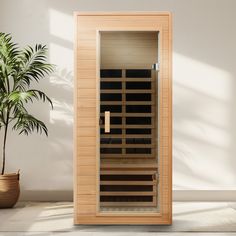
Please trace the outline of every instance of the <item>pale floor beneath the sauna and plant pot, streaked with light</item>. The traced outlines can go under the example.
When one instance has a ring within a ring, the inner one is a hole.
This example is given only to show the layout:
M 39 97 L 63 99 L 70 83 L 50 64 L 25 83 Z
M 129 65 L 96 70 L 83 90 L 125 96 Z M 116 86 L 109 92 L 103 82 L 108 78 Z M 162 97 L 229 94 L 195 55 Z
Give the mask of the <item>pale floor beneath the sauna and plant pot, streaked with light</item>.
M 175 202 L 172 226 L 74 226 L 71 202 L 21 202 L 0 210 L 4 236 L 236 236 L 236 202 Z

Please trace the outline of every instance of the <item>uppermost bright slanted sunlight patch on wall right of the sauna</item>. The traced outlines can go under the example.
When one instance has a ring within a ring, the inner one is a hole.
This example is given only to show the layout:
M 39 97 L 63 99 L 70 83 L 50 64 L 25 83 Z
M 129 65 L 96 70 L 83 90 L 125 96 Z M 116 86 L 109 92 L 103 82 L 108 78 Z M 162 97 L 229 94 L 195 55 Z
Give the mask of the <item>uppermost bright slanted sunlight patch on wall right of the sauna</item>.
M 175 81 L 213 98 L 230 100 L 229 72 L 178 53 L 173 58 Z

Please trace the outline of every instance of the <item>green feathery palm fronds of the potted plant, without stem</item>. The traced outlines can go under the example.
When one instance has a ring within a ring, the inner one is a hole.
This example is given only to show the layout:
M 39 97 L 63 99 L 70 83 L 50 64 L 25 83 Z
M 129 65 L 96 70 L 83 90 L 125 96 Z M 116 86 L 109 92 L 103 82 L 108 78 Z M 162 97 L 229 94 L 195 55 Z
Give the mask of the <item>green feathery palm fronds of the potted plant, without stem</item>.
M 50 75 L 54 65 L 47 62 L 46 45 L 36 44 L 20 49 L 10 34 L 0 32 L 0 129 L 10 123 L 20 134 L 33 131 L 48 134 L 46 125 L 26 109 L 27 103 L 48 102 L 51 99 L 32 82 Z

